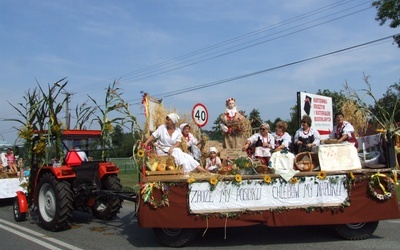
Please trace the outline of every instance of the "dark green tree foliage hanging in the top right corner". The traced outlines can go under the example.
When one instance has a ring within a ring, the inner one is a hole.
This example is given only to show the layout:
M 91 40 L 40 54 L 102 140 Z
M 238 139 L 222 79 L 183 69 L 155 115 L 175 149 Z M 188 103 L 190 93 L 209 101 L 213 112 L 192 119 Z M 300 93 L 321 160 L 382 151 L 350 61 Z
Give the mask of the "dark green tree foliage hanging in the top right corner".
M 397 28 L 400 26 L 400 0 L 379 0 L 372 2 L 372 6 L 377 9 L 376 21 L 383 25 L 391 20 L 389 27 Z M 400 34 L 393 36 L 395 42 L 400 48 Z

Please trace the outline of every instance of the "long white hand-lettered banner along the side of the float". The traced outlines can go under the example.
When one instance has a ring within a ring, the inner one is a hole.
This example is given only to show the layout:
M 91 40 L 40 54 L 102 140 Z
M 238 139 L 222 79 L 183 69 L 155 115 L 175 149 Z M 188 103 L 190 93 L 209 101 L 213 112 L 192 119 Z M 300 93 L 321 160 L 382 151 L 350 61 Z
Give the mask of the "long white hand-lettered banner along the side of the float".
M 346 175 L 304 177 L 305 181 L 291 184 L 278 180 L 266 184 L 263 180 L 242 181 L 240 185 L 220 181 L 211 191 L 208 182 L 189 185 L 191 213 L 262 211 L 271 208 L 340 206 L 348 197 L 344 186 Z

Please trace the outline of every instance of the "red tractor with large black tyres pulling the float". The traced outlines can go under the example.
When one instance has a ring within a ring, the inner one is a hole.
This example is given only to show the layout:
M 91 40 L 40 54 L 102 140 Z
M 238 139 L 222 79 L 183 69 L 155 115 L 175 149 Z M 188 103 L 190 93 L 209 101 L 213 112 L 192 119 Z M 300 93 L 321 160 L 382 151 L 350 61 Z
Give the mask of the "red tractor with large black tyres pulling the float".
M 100 139 L 99 130 L 64 130 L 61 147 L 65 160 L 60 161 L 49 160 L 55 145 L 50 139 L 46 157 L 38 159 L 37 147 L 43 144 L 43 136 L 35 136 L 28 191 L 17 192 L 14 219 L 23 221 L 30 212 L 43 228 L 58 231 L 68 224 L 73 210 L 109 220 L 119 213 L 123 199 L 134 200 L 134 194 L 124 196 L 122 192 L 119 168 L 103 159 Z

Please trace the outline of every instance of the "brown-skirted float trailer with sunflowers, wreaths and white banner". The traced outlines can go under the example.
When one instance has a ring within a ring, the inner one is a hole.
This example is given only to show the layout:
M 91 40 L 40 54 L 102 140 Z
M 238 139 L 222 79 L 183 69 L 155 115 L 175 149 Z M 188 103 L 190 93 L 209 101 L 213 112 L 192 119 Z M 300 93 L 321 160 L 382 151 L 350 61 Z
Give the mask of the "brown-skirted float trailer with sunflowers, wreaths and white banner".
M 380 220 L 400 218 L 396 169 L 363 166 L 350 143 L 321 145 L 316 155 L 300 171 L 305 162 L 287 151 L 273 153 L 268 166 L 225 152 L 218 173 L 184 174 L 179 166 L 168 170 L 173 161 L 151 149 L 139 150 L 139 225 L 153 228 L 161 244 L 181 247 L 208 228 L 257 224 L 332 225 L 340 237 L 360 240 Z

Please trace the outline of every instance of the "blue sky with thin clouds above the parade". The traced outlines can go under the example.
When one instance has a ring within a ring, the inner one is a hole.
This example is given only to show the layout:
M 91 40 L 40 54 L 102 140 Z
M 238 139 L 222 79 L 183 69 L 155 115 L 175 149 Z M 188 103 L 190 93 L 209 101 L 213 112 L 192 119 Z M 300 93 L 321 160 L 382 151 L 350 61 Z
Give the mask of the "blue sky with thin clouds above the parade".
M 379 98 L 400 79 L 392 39 L 213 84 L 399 33 L 379 26 L 371 2 L 0 0 L 0 118 L 16 117 L 7 101 L 22 102 L 37 82 L 64 77 L 71 108 L 87 95 L 102 103 L 104 89 L 118 80 L 140 122 L 145 91 L 181 114 L 204 104 L 206 129 L 228 97 L 247 114 L 257 109 L 264 120 L 288 119 L 296 92 L 340 91 L 346 82 L 361 89 L 365 74 Z M 166 94 L 203 84 L 213 86 Z M 14 142 L 16 125 L 2 121 L 0 134 Z

